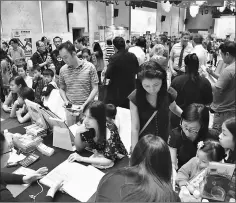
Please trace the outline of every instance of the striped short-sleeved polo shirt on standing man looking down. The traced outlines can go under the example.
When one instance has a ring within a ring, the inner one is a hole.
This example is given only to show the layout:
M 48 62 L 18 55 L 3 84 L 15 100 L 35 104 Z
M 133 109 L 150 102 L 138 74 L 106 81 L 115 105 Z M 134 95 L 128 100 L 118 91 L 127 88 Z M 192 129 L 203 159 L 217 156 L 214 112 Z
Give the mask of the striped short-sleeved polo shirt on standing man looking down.
M 92 91 L 92 85 L 97 83 L 97 71 L 90 62 L 83 61 L 77 68 L 65 64 L 60 70 L 59 84 L 66 87 L 66 96 L 72 104 L 84 104 Z

